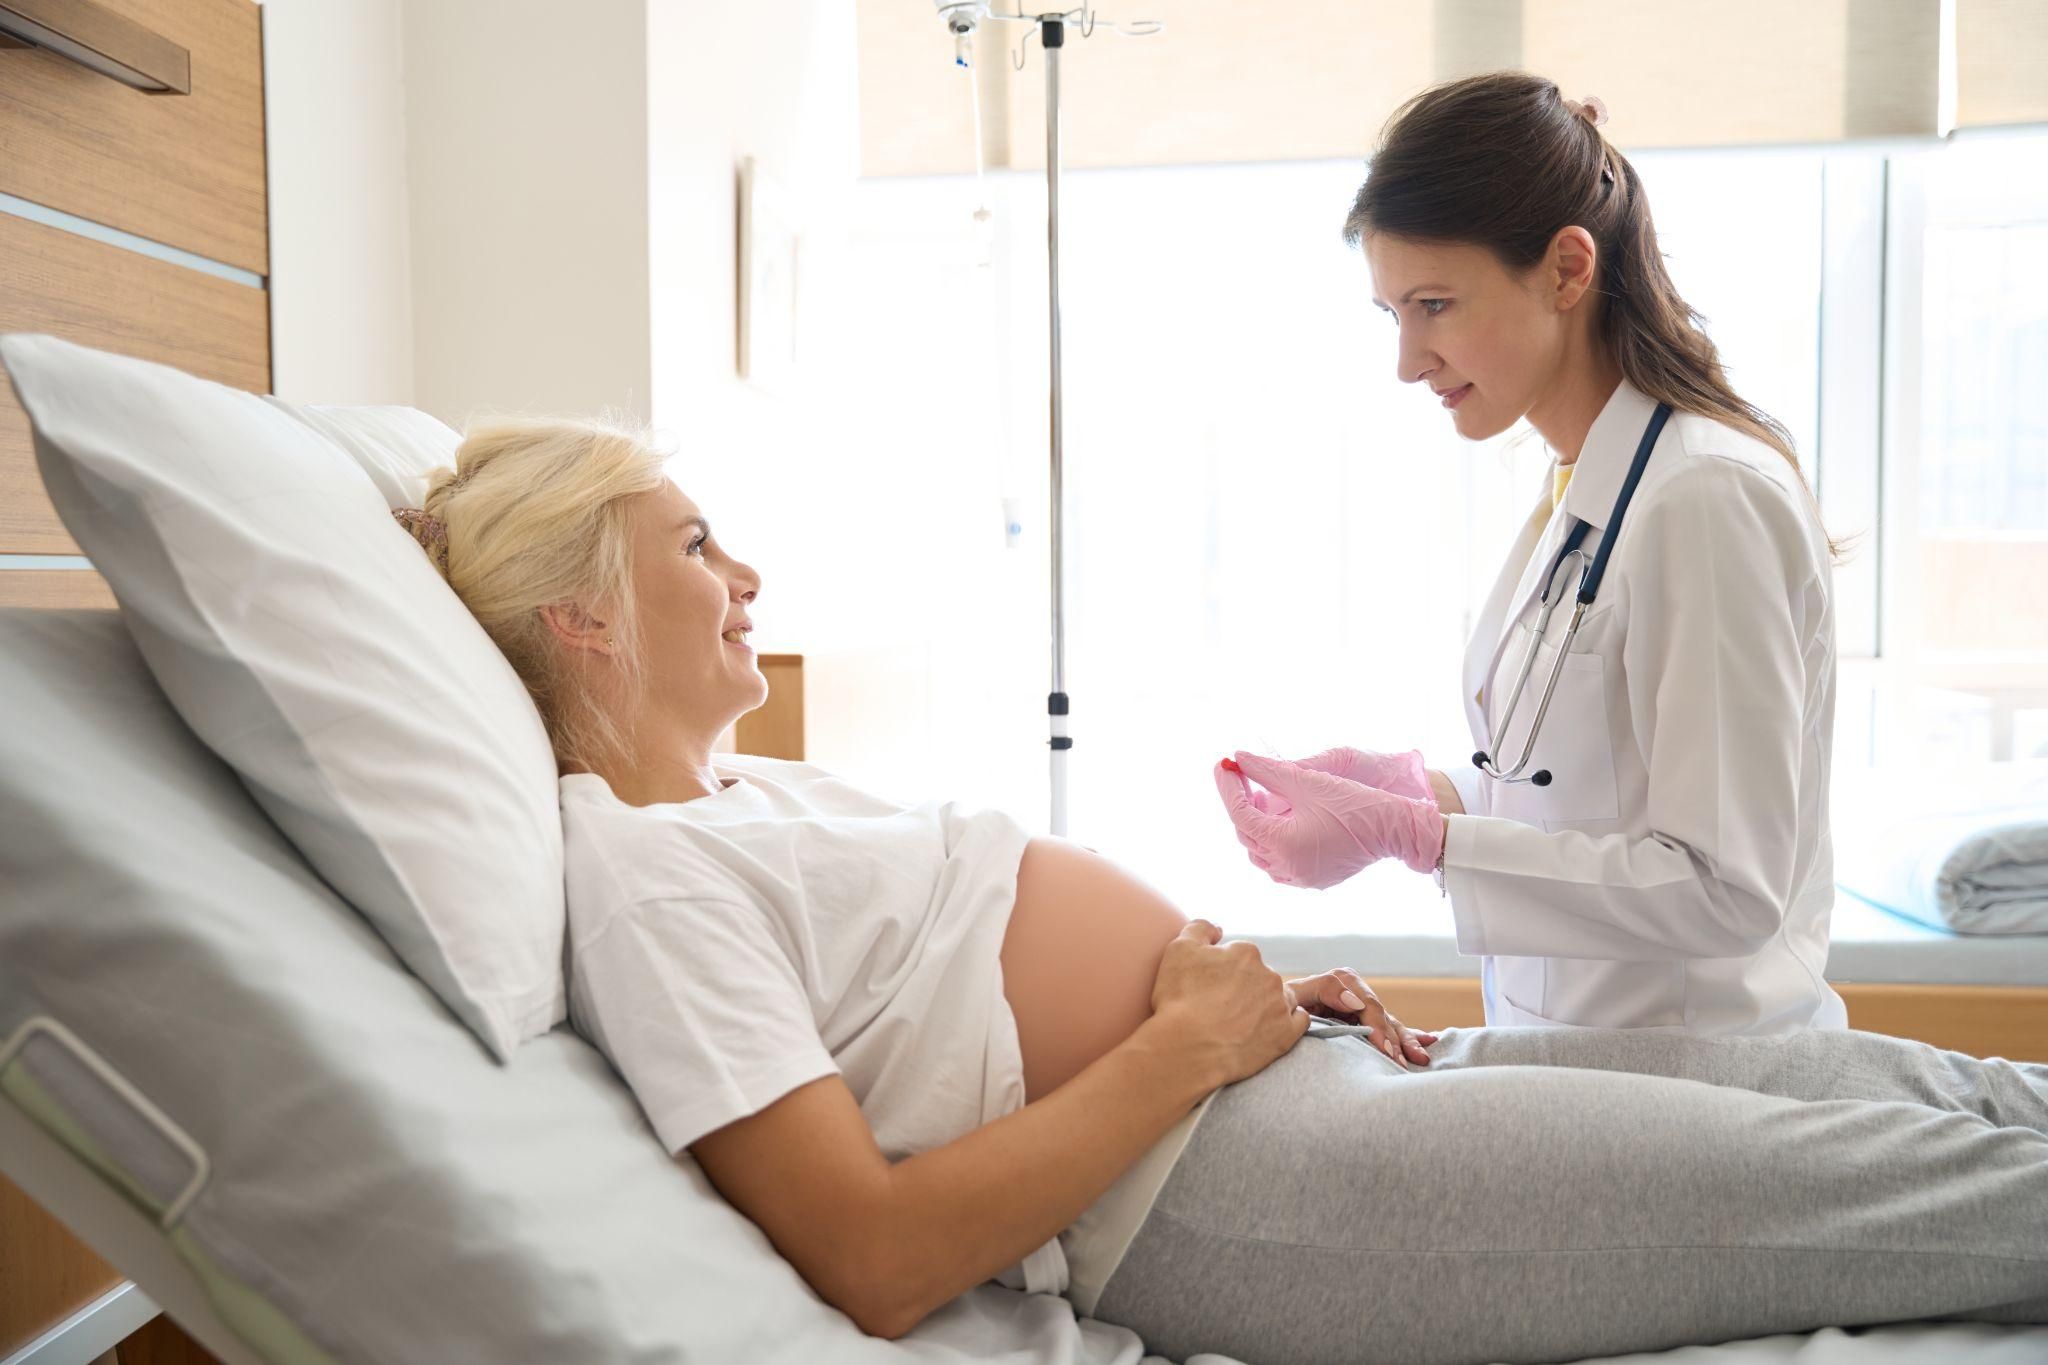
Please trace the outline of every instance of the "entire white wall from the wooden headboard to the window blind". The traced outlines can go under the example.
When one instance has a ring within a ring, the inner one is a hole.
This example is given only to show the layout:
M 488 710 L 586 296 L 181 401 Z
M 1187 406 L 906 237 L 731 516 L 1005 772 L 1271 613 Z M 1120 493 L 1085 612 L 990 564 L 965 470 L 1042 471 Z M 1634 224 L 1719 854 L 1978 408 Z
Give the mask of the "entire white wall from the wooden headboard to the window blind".
M 813 755 L 885 772 L 866 759 L 922 747 L 934 675 L 877 559 L 893 487 L 922 475 L 870 440 L 872 413 L 850 430 L 844 393 L 862 344 L 844 297 L 854 8 L 561 12 L 266 4 L 276 389 L 457 426 L 606 407 L 653 424 L 766 577 L 756 641 L 809 659 Z M 741 158 L 801 233 L 799 366 L 774 391 L 735 366 Z M 993 524 L 993 505 L 961 518 Z

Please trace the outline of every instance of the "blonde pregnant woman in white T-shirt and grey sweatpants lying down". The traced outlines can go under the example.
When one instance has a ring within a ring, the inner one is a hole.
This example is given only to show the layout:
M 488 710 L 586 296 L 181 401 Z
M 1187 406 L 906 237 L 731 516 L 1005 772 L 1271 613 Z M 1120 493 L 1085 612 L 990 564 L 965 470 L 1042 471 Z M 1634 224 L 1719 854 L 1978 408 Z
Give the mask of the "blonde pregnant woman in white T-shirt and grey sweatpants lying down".
M 637 438 L 479 432 L 401 516 L 549 722 L 575 1025 L 872 1334 L 991 1277 L 1266 1363 L 2048 1322 L 2048 1066 L 1409 1031 L 1004 814 L 715 755 L 760 575 Z

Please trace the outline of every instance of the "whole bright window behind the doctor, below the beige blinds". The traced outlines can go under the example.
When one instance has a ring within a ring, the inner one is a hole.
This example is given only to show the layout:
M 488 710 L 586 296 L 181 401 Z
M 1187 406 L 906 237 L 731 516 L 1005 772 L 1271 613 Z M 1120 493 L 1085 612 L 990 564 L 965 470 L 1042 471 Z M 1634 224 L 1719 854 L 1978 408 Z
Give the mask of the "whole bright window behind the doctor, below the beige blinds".
M 2028 387 L 2048 379 L 2048 137 L 1636 166 L 1673 280 L 1853 540 L 1837 769 L 2048 755 L 2048 591 L 2015 591 L 2048 583 Z M 1245 874 L 1210 763 L 1333 743 L 1464 761 L 1464 639 L 1548 460 L 1528 432 L 1466 446 L 1395 383 L 1339 237 L 1358 180 L 1313 162 L 1063 186 L 1071 835 L 1245 929 L 1341 907 Z M 987 199 L 981 239 L 969 180 L 858 188 L 850 458 L 897 471 L 893 553 L 942 606 L 887 645 L 922 710 L 829 761 L 1042 823 L 1042 180 L 991 176 Z

